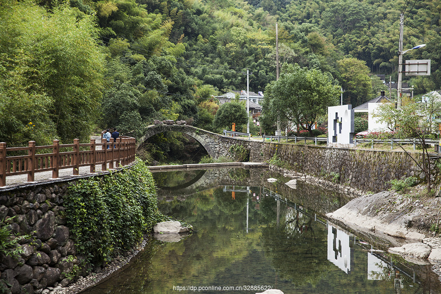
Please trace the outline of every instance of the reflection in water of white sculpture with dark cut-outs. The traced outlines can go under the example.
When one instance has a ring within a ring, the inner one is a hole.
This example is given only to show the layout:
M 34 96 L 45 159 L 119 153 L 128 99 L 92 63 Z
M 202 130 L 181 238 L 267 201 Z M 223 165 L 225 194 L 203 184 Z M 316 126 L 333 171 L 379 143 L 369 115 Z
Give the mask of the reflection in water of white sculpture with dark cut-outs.
M 328 223 L 328 260 L 345 273 L 351 271 L 353 250 L 349 235 Z

